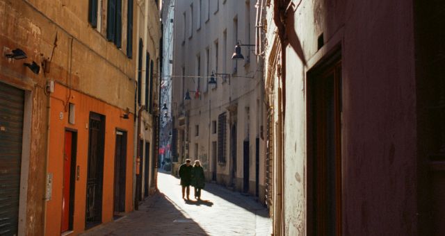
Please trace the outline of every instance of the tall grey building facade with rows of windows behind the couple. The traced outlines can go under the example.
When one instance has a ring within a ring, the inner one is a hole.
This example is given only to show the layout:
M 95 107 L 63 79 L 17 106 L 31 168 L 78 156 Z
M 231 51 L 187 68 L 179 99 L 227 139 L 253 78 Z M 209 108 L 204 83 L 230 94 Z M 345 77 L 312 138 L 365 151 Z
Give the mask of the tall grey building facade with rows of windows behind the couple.
M 207 180 L 264 202 L 266 109 L 255 12 L 252 1 L 176 1 L 172 159 L 174 174 L 185 158 L 201 160 Z M 231 59 L 237 43 L 244 60 Z

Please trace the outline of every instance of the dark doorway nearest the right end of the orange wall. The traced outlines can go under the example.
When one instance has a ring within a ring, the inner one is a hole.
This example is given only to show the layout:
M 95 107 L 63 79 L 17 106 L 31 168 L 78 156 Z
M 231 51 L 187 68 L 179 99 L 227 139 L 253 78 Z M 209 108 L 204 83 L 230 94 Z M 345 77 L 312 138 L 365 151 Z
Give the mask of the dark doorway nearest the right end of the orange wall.
M 114 216 L 125 212 L 125 182 L 127 177 L 127 131 L 116 130 L 114 158 Z

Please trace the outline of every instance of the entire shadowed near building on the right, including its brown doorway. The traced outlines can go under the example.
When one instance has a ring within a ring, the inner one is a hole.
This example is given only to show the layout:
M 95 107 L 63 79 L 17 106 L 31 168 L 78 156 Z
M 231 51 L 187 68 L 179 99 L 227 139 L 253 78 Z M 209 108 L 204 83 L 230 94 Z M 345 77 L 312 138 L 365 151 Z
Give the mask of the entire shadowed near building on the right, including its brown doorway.
M 258 3 L 274 235 L 444 234 L 444 4 Z

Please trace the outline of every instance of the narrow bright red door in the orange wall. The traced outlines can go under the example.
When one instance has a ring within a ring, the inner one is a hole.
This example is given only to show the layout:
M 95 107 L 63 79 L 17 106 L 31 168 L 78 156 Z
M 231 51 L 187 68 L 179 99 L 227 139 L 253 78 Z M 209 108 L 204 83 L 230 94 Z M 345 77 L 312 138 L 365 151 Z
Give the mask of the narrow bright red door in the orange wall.
M 72 132 L 65 131 L 65 151 L 63 153 L 63 196 L 61 233 L 70 227 L 70 176 L 71 176 Z

